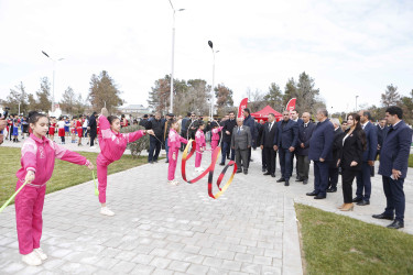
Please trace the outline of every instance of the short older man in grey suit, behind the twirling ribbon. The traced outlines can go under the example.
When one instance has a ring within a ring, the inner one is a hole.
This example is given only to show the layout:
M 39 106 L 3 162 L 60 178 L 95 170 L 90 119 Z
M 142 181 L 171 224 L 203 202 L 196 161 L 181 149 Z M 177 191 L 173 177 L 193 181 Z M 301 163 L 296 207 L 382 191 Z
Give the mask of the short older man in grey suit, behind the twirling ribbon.
M 231 147 L 236 151 L 237 173 L 241 173 L 241 161 L 243 174 L 248 174 L 248 151 L 251 150 L 252 138 L 250 128 L 242 125 L 243 119 L 237 119 L 237 127 L 233 129 Z

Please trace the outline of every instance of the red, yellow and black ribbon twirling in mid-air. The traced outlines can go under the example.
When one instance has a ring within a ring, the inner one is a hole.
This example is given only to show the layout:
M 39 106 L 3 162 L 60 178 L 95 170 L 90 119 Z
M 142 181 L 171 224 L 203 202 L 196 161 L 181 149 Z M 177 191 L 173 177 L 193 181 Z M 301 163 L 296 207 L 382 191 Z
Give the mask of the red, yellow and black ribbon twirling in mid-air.
M 189 150 L 189 145 L 192 144 L 192 148 L 191 148 L 191 152 L 188 154 L 188 150 Z M 218 157 L 220 155 L 220 147 L 216 147 L 213 152 L 213 160 L 211 160 L 211 163 L 209 165 L 208 168 L 206 168 L 200 175 L 198 175 L 196 178 L 194 179 L 187 179 L 186 178 L 186 161 L 189 160 L 194 153 L 195 153 L 195 148 L 196 148 L 196 143 L 195 141 L 193 140 L 189 140 L 188 144 L 186 145 L 185 147 L 185 151 L 182 155 L 182 165 L 181 165 L 181 172 L 182 172 L 182 178 L 187 182 L 188 184 L 194 184 L 196 182 L 198 182 L 200 178 L 203 178 L 206 174 L 209 173 L 208 175 L 208 195 L 209 197 L 214 198 L 214 199 L 217 199 L 219 198 L 227 189 L 228 187 L 231 185 L 232 180 L 233 180 L 233 176 L 237 172 L 237 164 L 233 162 L 233 161 L 230 161 L 226 166 L 225 168 L 222 169 L 222 172 L 220 173 L 219 177 L 218 177 L 218 180 L 217 180 L 217 187 L 219 189 L 219 191 L 217 194 L 214 195 L 213 193 L 213 180 L 214 180 L 214 170 L 215 170 L 215 165 L 218 161 Z M 227 169 L 230 167 L 230 166 L 233 166 L 233 170 L 232 170 L 232 175 L 230 176 L 230 178 L 227 180 L 227 183 L 224 185 L 222 188 L 220 188 L 220 184 L 222 182 L 222 178 L 227 172 Z

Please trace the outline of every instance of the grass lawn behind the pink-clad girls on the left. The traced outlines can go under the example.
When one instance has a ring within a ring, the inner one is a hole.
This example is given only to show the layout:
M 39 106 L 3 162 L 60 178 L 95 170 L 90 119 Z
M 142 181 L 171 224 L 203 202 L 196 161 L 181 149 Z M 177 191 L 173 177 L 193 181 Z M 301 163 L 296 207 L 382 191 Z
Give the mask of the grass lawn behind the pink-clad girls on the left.
M 97 153 L 78 152 L 86 156 L 95 165 L 96 175 L 96 157 Z M 0 173 L 0 206 L 8 200 L 15 191 L 15 183 L 18 178 L 15 173 L 20 169 L 21 150 L 13 147 L 0 147 L 1 173 Z M 132 158 L 131 155 L 123 155 L 122 158 L 112 163 L 108 167 L 108 174 L 133 168 L 146 163 L 146 157 L 140 156 Z M 55 169 L 51 180 L 47 183 L 47 193 L 57 191 L 69 186 L 78 185 L 91 180 L 91 172 L 86 166 L 63 162 L 56 160 Z M 97 180 L 97 179 L 96 179 Z

